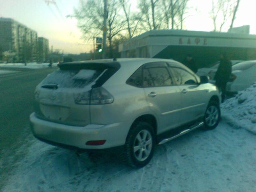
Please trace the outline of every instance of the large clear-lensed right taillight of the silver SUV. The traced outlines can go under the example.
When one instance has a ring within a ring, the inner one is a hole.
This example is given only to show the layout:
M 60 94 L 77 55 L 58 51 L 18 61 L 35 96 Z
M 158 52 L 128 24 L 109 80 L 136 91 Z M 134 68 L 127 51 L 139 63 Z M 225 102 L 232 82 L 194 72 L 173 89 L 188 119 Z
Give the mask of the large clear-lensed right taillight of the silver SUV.
M 87 92 L 74 94 L 76 104 L 110 104 L 114 101 L 114 97 L 104 88 L 98 87 Z

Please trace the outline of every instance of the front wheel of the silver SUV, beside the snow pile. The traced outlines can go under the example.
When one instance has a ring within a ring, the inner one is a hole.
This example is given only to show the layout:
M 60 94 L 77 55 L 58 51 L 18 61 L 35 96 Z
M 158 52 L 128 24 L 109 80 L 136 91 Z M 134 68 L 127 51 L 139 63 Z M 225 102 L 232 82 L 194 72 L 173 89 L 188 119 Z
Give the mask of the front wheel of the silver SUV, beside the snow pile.
M 216 101 L 210 101 L 204 114 L 204 128 L 212 130 L 220 122 L 220 104 Z

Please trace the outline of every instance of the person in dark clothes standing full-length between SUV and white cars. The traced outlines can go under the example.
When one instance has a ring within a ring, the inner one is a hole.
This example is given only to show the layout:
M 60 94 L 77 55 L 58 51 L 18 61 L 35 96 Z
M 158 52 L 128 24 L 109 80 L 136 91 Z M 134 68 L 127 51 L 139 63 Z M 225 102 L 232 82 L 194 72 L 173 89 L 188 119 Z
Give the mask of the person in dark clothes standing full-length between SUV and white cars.
M 222 91 L 221 98 L 224 102 L 226 95 L 226 85 L 231 76 L 232 64 L 225 53 L 220 55 L 220 64 L 218 70 L 214 76 L 216 80 L 216 86 Z

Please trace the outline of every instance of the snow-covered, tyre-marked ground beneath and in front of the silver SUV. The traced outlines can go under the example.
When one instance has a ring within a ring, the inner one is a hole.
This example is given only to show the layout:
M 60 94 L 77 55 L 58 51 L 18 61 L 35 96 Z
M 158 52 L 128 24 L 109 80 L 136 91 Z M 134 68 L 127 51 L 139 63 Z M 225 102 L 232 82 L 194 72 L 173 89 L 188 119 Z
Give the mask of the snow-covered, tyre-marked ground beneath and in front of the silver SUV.
M 32 137 L 31 137 L 32 138 Z M 152 161 L 133 169 L 115 156 L 87 154 L 35 139 L 3 192 L 252 192 L 256 189 L 256 139 L 222 120 L 156 148 Z M 20 148 L 22 151 L 23 149 Z M 94 157 L 95 158 L 95 157 Z

